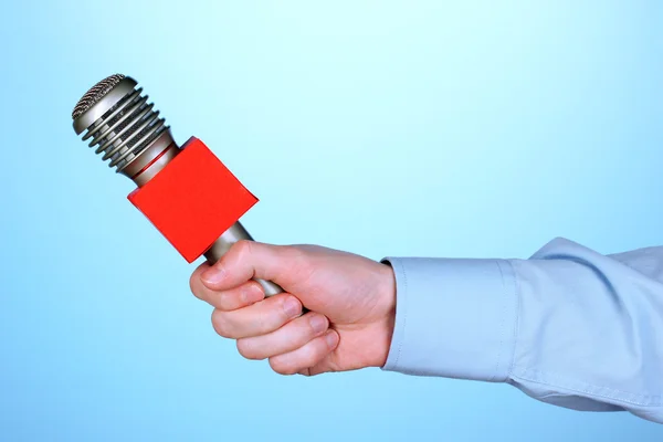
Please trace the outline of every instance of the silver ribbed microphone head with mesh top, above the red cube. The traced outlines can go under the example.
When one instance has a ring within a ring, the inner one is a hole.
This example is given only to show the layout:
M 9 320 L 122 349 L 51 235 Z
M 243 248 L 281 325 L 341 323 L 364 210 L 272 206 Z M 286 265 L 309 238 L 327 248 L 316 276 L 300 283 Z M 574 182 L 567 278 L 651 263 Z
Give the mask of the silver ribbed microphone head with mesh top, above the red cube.
M 166 149 L 176 150 L 169 126 L 137 85 L 129 76 L 110 75 L 92 86 L 72 112 L 76 135 L 85 131 L 83 140 L 92 138 L 90 147 L 96 146 L 108 167 L 135 181 Z

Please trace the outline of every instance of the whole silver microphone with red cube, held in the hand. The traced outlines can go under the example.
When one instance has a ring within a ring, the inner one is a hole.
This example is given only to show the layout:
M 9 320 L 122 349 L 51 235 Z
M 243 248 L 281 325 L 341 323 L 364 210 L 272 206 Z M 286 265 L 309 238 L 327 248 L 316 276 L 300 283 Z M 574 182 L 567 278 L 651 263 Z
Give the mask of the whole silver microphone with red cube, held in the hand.
M 87 91 L 72 112 L 76 135 L 85 133 L 102 160 L 136 183 L 128 200 L 189 262 L 215 263 L 240 240 L 253 241 L 240 218 L 257 199 L 207 146 L 191 137 L 179 147 L 143 87 L 110 75 Z M 255 278 L 266 296 L 283 290 Z

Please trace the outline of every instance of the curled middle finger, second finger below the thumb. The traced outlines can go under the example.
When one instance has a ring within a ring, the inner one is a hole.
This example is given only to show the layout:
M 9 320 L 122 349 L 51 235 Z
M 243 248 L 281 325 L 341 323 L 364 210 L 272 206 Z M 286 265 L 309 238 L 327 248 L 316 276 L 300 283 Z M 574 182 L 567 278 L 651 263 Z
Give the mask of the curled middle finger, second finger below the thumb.
M 302 314 L 302 303 L 282 293 L 236 311 L 214 309 L 212 325 L 225 338 L 240 339 L 272 333 Z

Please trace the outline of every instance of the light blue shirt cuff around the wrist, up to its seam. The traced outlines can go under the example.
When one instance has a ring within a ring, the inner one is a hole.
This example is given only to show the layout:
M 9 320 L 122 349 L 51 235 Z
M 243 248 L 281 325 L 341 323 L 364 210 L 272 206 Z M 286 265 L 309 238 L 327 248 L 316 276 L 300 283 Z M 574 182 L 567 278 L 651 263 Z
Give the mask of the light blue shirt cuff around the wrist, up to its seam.
M 516 277 L 506 260 L 386 257 L 396 324 L 382 367 L 406 375 L 503 382 L 516 341 Z

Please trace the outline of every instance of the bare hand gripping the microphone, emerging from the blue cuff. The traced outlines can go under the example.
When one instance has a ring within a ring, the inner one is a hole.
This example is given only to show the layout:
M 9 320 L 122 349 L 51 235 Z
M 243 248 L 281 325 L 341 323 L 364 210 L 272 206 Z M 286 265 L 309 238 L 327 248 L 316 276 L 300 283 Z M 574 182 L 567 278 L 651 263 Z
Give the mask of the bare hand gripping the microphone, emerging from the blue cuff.
M 285 293 L 265 298 L 252 278 Z M 248 359 L 282 375 L 382 367 L 396 312 L 389 265 L 315 245 L 240 241 L 191 275 L 193 294 L 214 307 L 212 325 Z M 302 315 L 302 306 L 309 312 Z

